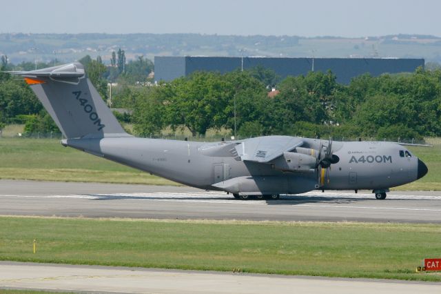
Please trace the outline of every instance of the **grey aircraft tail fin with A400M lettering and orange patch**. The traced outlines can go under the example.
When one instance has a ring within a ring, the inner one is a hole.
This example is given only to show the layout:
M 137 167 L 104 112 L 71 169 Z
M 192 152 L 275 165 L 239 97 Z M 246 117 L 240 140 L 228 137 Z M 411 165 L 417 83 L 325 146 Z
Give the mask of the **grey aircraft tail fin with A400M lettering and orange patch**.
M 66 138 L 130 136 L 85 76 L 81 63 L 10 73 L 24 77 Z

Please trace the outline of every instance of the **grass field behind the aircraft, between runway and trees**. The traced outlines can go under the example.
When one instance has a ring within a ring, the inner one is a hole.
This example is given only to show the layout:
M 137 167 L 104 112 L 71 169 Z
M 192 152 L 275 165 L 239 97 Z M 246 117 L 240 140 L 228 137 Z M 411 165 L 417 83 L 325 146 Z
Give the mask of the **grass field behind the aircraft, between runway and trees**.
M 411 147 L 429 167 L 422 179 L 394 190 L 441 190 L 441 139 Z M 0 139 L 0 179 L 177 185 L 139 170 L 65 148 L 57 139 Z

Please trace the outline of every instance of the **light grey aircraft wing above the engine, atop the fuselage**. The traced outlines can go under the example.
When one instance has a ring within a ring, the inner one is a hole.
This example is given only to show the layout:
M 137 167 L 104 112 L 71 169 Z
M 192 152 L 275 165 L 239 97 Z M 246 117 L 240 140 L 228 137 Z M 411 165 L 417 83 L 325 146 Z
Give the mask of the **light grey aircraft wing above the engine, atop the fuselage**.
M 243 161 L 267 163 L 303 143 L 302 139 L 289 136 L 256 137 L 236 145 L 236 151 Z

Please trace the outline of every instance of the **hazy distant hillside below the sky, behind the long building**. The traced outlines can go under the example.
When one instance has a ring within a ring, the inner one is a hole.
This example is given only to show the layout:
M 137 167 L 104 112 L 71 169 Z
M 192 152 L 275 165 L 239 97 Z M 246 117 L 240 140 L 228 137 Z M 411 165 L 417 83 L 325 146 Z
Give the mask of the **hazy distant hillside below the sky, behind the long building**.
M 226 36 L 198 34 L 0 34 L 0 55 L 12 63 L 53 59 L 70 62 L 101 55 L 110 63 L 113 50 L 127 59 L 144 55 L 260 57 L 424 58 L 441 63 L 441 38 L 429 35 L 383 37 Z

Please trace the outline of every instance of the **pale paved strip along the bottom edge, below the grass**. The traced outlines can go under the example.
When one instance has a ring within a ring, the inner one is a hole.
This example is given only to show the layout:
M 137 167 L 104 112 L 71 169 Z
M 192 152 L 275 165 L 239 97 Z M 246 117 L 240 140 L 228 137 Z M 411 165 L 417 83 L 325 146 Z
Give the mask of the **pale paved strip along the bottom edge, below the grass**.
M 0 288 L 99 293 L 439 293 L 440 283 L 0 262 Z

